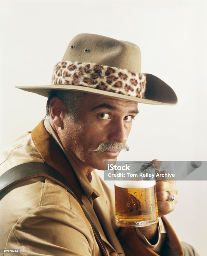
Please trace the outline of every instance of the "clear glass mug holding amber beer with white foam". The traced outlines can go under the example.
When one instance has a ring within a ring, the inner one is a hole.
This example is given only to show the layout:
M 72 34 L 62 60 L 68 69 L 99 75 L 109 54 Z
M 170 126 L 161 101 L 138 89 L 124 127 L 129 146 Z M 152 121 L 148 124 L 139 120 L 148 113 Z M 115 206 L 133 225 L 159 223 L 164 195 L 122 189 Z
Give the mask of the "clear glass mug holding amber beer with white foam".
M 129 164 L 130 174 L 124 174 L 128 180 L 114 177 L 116 224 L 122 227 L 145 227 L 157 223 L 154 165 L 140 162 Z

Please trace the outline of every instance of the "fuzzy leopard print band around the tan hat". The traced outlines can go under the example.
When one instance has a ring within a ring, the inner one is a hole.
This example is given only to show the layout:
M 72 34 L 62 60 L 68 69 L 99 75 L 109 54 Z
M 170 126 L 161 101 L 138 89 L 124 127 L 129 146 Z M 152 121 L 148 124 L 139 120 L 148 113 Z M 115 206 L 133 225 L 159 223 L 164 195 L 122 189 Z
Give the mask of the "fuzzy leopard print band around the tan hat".
M 55 65 L 52 85 L 65 84 L 143 98 L 146 89 L 144 74 L 93 63 L 62 61 Z

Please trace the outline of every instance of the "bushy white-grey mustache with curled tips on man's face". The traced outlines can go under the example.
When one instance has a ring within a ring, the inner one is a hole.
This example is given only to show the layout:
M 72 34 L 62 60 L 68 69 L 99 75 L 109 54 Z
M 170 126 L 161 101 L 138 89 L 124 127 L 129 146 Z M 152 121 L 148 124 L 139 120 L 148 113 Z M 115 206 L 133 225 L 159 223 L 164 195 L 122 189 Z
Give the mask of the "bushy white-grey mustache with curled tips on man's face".
M 126 145 L 126 143 L 114 143 L 114 142 L 108 141 L 108 142 L 100 143 L 96 149 L 94 150 L 90 149 L 89 151 L 94 153 L 103 153 L 106 150 L 119 151 L 119 152 L 121 150 L 129 151 L 129 147 Z

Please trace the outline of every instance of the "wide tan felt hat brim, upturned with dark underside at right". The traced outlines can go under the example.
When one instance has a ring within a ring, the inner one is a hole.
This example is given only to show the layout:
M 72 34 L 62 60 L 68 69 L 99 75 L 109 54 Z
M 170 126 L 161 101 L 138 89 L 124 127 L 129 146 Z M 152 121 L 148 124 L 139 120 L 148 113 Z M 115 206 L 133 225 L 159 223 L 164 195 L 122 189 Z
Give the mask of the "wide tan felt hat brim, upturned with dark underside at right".
M 176 105 L 177 96 L 174 90 L 168 86 L 160 78 L 152 74 L 144 74 L 146 76 L 146 91 L 145 98 L 137 98 L 124 94 L 118 94 L 114 92 L 104 91 L 96 88 L 76 86 L 76 85 L 65 85 L 65 84 L 55 84 L 46 86 L 15 86 L 15 88 L 37 93 L 44 97 L 48 97 L 51 90 L 71 90 L 71 91 L 82 91 L 87 93 L 94 93 L 98 95 L 106 95 L 108 97 L 113 97 L 117 99 L 135 101 L 145 104 L 152 105 Z

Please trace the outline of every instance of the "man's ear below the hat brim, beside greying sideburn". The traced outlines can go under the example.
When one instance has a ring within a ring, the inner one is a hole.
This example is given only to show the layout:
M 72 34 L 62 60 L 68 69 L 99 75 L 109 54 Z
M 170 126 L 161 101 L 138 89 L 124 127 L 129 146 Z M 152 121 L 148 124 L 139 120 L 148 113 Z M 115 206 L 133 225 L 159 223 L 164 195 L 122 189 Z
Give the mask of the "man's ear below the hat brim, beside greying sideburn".
M 50 117 L 51 121 L 55 126 L 63 129 L 63 119 L 67 114 L 65 106 L 60 98 L 53 97 L 50 100 Z

